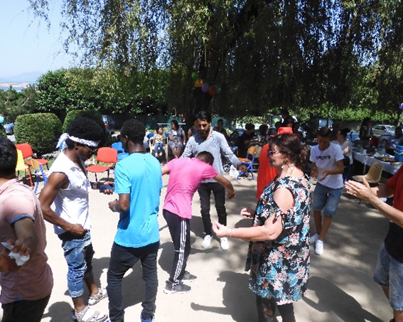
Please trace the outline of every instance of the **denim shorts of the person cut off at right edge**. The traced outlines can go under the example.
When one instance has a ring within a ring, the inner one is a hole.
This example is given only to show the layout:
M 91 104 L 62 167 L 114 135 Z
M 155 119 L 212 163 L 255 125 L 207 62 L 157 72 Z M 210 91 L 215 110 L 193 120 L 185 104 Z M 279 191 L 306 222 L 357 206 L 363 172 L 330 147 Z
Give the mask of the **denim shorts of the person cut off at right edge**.
M 374 281 L 389 288 L 389 304 L 394 311 L 403 311 L 403 263 L 389 255 L 385 244 L 380 249 Z

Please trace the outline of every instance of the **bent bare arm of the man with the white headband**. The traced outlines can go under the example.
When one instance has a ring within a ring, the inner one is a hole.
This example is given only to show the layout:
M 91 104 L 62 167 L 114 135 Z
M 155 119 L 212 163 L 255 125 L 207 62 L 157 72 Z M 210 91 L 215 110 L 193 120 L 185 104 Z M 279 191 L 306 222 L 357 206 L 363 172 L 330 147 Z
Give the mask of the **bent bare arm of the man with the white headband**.
M 70 184 L 68 176 L 65 173 L 52 173 L 48 178 L 48 183 L 43 187 L 41 195 L 39 195 L 39 201 L 41 201 L 43 218 L 53 225 L 58 225 L 64 230 L 71 232 L 73 235 L 83 236 L 87 233 L 87 230 L 80 224 L 72 224 L 66 220 L 60 218 L 50 206 L 56 198 L 60 189 L 67 188 Z

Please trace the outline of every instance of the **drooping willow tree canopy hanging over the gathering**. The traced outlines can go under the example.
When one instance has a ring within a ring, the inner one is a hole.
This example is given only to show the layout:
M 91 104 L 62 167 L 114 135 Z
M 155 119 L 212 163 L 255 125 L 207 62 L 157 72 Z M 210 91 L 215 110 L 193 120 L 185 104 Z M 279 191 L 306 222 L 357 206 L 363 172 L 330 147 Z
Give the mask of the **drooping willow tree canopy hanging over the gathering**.
M 29 1 L 47 18 L 48 1 Z M 63 1 L 65 48 L 80 48 L 83 66 L 142 75 L 134 95 L 179 112 L 240 116 L 367 107 L 398 117 L 402 11 L 397 0 Z

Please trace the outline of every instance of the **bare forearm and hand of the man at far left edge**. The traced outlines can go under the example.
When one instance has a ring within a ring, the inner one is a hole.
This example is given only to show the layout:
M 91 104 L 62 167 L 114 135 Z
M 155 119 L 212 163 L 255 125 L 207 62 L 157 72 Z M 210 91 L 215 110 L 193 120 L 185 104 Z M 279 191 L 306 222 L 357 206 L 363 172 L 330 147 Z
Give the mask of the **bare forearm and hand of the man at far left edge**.
M 8 240 L 7 244 L 14 245 L 9 251 L 4 248 L 0 254 L 0 272 L 18 272 L 25 265 L 17 266 L 16 260 L 9 257 L 9 252 L 18 253 L 21 256 L 30 255 L 30 259 L 36 254 L 39 240 L 36 237 L 35 227 L 31 218 L 23 218 L 14 223 L 17 240 Z M 29 260 L 28 260 L 29 262 Z

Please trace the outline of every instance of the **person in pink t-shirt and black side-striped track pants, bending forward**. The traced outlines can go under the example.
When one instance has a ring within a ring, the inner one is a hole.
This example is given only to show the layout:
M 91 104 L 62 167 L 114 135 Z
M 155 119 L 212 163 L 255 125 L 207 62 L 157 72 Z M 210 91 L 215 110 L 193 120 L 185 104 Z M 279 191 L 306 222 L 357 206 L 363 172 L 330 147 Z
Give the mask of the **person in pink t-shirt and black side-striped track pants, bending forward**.
M 173 159 L 162 167 L 162 174 L 170 175 L 163 205 L 163 218 L 168 224 L 175 248 L 172 271 L 164 289 L 166 294 L 187 293 L 190 286 L 182 281 L 196 279 L 185 269 L 190 254 L 192 199 L 200 183 L 205 179 L 214 179 L 227 188 L 228 199 L 235 197 L 232 184 L 215 171 L 211 166 L 213 162 L 213 155 L 203 151 L 196 158 Z

